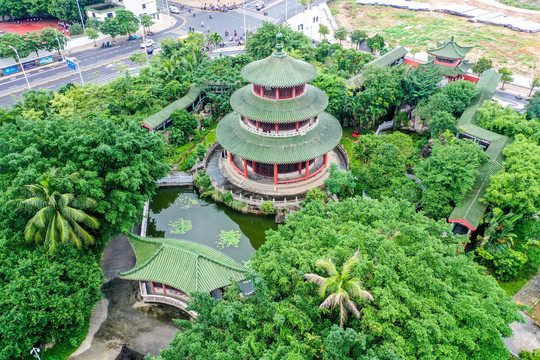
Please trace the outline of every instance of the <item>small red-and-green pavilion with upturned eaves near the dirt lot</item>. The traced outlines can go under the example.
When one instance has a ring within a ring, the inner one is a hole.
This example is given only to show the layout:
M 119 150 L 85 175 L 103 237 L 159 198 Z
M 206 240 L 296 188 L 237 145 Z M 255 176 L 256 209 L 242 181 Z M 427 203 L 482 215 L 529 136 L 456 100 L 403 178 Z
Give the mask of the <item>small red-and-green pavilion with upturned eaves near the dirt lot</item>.
M 474 65 L 464 60 L 472 46 L 461 46 L 454 37 L 447 43 L 437 42 L 435 49 L 428 49 L 428 62 L 419 65 L 422 68 L 436 68 L 449 82 L 464 79 L 467 71 Z

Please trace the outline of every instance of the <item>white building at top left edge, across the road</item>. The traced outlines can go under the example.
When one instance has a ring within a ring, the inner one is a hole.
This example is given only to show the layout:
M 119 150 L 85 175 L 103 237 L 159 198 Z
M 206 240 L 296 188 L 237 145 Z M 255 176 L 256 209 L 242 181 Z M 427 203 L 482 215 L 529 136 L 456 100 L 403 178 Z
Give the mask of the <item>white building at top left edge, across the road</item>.
M 110 0 L 84 8 L 89 19 L 93 18 L 99 21 L 115 17 L 116 11 L 124 9 L 131 11 L 135 16 L 154 15 L 158 12 L 156 0 Z

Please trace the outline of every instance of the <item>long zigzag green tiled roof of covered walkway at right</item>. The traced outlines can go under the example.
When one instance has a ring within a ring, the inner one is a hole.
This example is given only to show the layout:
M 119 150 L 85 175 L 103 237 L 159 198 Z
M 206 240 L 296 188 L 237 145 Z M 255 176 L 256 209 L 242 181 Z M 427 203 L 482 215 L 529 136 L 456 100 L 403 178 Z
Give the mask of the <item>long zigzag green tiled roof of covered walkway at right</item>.
M 489 160 L 478 168 L 479 174 L 473 187 L 467 192 L 461 204 L 456 206 L 448 217 L 451 222 L 461 222 L 466 226 L 468 225 L 469 228 L 472 227 L 471 230 L 478 227 L 484 216 L 487 205 L 481 203 L 480 200 L 486 193 L 490 177 L 502 168 L 502 151 L 511 142 L 510 138 L 481 128 L 476 124 L 476 110 L 482 106 L 484 101 L 491 99 L 500 78 L 501 76 L 495 70 L 488 70 L 482 74 L 480 81 L 476 84 L 476 89 L 479 91 L 478 95 L 467 106 L 458 121 L 461 133 L 490 142 L 486 150 Z

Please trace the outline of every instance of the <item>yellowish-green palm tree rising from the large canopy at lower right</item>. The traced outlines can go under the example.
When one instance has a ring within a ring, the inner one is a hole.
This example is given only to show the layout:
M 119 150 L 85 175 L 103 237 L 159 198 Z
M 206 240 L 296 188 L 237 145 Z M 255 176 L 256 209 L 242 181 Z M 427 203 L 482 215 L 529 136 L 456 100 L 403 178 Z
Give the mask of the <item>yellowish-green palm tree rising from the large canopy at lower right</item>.
M 373 296 L 362 289 L 362 282 L 357 278 L 351 278 L 351 272 L 360 262 L 360 253 L 357 251 L 349 260 L 343 264 L 341 273 L 337 271 L 332 260 L 317 260 L 316 266 L 326 270 L 330 277 L 324 278 L 317 274 L 304 274 L 306 280 L 319 285 L 319 294 L 325 297 L 330 294 L 319 307 L 321 309 L 330 307 L 331 311 L 339 307 L 339 326 L 343 327 L 347 321 L 347 310 L 354 316 L 360 318 L 360 312 L 356 307 L 354 299 L 373 301 Z

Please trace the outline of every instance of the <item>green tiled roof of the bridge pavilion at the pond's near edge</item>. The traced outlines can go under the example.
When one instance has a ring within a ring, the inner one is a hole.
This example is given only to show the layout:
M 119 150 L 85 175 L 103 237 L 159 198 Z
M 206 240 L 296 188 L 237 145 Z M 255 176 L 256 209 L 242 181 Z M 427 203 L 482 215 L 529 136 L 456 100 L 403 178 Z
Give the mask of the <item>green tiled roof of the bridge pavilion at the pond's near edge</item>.
M 177 239 L 149 239 L 129 235 L 137 262 L 122 279 L 154 281 L 190 294 L 211 292 L 246 280 L 246 268 L 208 246 Z

